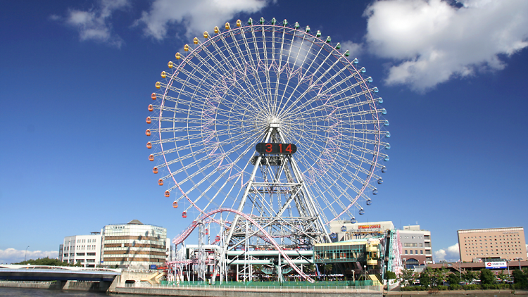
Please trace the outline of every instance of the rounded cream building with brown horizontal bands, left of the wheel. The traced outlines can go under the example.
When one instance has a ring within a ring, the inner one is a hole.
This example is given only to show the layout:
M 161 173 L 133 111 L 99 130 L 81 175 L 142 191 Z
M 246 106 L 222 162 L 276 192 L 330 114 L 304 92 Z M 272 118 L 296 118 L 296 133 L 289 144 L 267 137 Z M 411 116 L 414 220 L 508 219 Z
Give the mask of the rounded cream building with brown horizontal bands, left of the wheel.
M 144 225 L 139 220 L 106 225 L 102 234 L 101 265 L 148 269 L 165 262 L 167 229 Z

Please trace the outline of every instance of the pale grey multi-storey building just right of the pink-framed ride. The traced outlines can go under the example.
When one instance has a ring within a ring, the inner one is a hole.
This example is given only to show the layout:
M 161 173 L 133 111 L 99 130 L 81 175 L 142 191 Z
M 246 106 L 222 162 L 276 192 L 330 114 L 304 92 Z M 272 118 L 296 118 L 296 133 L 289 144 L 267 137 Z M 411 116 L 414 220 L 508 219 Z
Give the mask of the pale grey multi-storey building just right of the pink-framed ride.
M 401 261 L 407 269 L 432 264 L 431 232 L 420 225 L 403 226 L 400 230 Z

